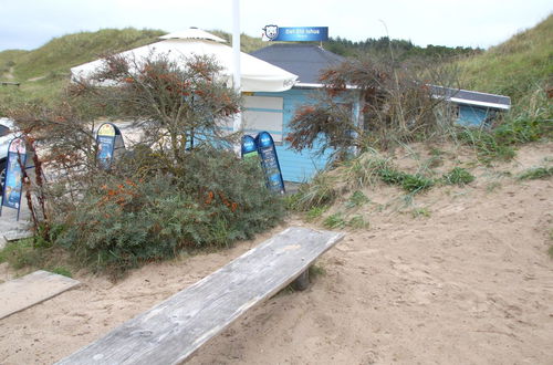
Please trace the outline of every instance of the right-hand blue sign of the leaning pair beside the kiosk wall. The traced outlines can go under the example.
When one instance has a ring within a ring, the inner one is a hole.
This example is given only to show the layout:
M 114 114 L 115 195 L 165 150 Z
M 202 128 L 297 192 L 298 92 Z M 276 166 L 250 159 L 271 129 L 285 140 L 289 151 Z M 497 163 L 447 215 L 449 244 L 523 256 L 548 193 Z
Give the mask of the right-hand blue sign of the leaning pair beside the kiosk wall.
M 261 166 L 265 173 L 267 187 L 271 191 L 284 194 L 284 180 L 282 179 L 273 137 L 267 132 L 261 132 L 255 137 L 255 144 L 258 154 L 261 156 Z

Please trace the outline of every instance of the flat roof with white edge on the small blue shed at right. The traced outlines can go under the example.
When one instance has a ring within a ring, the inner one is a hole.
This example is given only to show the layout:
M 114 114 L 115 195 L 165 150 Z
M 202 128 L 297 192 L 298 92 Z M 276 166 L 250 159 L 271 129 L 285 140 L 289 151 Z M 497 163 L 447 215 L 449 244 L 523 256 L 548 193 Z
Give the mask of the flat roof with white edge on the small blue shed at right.
M 430 90 L 435 97 L 444 97 L 449 102 L 458 104 L 476 105 L 499 109 L 509 109 L 511 107 L 511 98 L 509 96 L 436 85 L 430 85 Z

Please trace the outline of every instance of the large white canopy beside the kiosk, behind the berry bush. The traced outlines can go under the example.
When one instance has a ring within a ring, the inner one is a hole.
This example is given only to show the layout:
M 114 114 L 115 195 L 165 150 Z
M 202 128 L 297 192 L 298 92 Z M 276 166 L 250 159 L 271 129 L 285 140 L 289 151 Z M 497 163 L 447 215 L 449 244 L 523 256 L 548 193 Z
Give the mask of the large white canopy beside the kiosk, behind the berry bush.
M 122 52 L 121 55 L 134 58 L 138 62 L 150 54 L 165 54 L 170 60 L 179 61 L 192 55 L 211 55 L 223 69 L 223 74 L 231 82 L 233 61 L 232 48 L 222 44 L 225 40 L 199 29 L 170 33 L 161 36 L 160 42 Z M 274 66 L 265 61 L 241 52 L 241 91 L 243 92 L 282 92 L 291 88 L 296 75 Z M 71 69 L 72 77 L 86 77 L 103 65 L 96 60 Z

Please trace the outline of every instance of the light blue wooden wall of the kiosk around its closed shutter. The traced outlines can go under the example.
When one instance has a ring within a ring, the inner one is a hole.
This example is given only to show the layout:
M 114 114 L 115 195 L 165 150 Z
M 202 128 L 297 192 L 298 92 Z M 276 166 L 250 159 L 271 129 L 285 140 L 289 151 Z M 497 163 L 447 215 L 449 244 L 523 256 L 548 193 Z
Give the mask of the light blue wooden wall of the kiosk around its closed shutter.
M 283 98 L 283 132 L 282 145 L 276 146 L 279 161 L 282 169 L 282 177 L 286 181 L 303 182 L 311 179 L 317 170 L 322 170 L 330 159 L 331 152 L 325 153 L 323 156 L 315 156 L 312 150 L 303 150 L 298 153 L 290 149 L 290 143 L 284 138 L 290 133 L 289 123 L 295 114 L 295 109 L 305 104 L 313 103 L 310 95 L 312 90 L 291 88 L 282 93 L 254 93 L 253 96 L 273 96 Z M 255 109 L 255 108 L 252 108 Z M 246 129 L 248 134 L 255 134 L 260 131 Z M 274 131 L 268 131 L 272 135 L 279 134 Z

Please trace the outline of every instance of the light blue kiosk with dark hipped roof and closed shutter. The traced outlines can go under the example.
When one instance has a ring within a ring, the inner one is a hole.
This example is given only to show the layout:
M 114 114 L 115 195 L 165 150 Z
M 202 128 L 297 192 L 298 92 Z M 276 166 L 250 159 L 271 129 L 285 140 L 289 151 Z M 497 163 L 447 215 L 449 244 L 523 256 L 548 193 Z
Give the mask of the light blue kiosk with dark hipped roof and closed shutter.
M 344 58 L 307 43 L 272 44 L 254 51 L 251 55 L 298 75 L 294 86 L 280 93 L 248 93 L 242 114 L 246 134 L 255 135 L 260 131 L 271 133 L 286 181 L 302 182 L 323 169 L 331 153 L 319 156 L 314 150 L 301 153 L 290 149 L 285 140 L 289 124 L 299 106 L 314 103 L 314 93 L 322 88 L 319 77 L 322 71 L 337 66 Z M 355 91 L 352 91 L 355 92 Z M 353 106 L 353 116 L 359 117 L 358 104 Z M 314 148 L 316 149 L 316 148 Z

